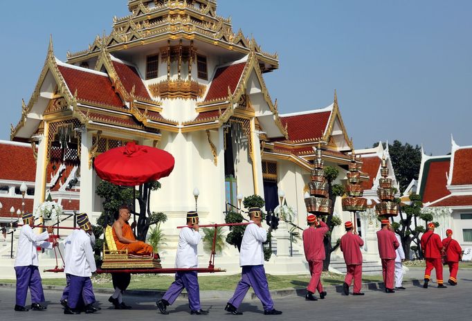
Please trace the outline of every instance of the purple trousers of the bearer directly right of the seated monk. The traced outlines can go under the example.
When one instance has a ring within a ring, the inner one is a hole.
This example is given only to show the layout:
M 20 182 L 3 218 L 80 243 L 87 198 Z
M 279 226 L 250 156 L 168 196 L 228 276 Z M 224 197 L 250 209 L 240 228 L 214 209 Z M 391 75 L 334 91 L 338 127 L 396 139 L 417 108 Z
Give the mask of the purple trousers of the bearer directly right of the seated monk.
M 192 311 L 200 310 L 200 286 L 197 271 L 176 272 L 175 281 L 172 282 L 167 291 L 165 291 L 162 297 L 163 300 L 169 302 L 169 304 L 174 303 L 183 288 L 187 290 L 190 309 Z

